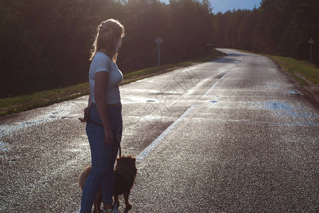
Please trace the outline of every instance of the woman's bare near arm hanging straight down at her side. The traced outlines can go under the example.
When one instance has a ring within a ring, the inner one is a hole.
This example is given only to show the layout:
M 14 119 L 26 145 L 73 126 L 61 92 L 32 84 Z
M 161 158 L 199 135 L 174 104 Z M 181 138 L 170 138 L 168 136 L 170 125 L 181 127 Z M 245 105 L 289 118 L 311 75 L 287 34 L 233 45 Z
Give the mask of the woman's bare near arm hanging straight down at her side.
M 108 104 L 106 102 L 106 89 L 108 87 L 108 72 L 95 73 L 94 99 L 98 109 L 98 115 L 103 124 L 105 140 L 103 143 L 113 143 L 113 133 L 110 129 L 110 120 L 108 118 Z

